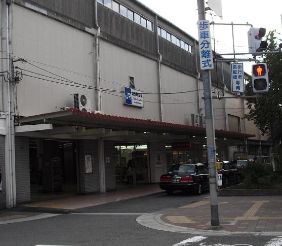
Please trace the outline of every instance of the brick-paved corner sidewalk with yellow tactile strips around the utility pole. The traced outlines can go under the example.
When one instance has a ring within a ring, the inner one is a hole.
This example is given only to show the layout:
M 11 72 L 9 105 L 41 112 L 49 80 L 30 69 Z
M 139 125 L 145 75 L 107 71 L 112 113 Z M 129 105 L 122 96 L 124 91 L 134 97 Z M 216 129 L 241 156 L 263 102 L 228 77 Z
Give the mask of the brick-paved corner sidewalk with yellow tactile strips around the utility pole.
M 210 198 L 166 210 L 160 217 L 175 226 L 212 230 Z M 218 197 L 220 231 L 280 232 L 282 235 L 281 196 Z

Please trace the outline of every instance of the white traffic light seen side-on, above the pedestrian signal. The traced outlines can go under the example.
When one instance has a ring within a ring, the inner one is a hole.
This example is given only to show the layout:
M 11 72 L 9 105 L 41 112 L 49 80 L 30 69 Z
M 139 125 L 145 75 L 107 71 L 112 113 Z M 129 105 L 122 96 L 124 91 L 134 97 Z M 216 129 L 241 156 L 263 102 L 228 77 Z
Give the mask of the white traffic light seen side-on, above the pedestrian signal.
M 261 41 L 261 38 L 265 36 L 265 28 L 251 27 L 248 31 L 248 44 L 249 53 L 256 55 L 257 52 L 266 50 L 267 42 Z

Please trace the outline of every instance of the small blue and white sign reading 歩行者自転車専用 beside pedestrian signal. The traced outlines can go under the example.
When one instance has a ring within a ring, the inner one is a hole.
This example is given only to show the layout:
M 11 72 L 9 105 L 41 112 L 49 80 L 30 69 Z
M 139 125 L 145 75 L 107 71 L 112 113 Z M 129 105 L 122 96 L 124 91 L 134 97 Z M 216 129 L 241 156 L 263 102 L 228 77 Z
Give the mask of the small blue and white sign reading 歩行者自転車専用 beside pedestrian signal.
M 244 84 L 243 62 L 231 63 L 230 67 L 231 67 L 231 91 L 233 93 L 244 92 L 245 84 Z

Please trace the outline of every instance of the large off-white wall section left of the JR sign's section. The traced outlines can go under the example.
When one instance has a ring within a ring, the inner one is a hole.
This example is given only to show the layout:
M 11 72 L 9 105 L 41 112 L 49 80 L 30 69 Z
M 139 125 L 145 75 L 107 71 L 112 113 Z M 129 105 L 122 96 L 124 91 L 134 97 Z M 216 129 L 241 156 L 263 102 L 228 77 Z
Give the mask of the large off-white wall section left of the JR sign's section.
M 23 80 L 17 85 L 21 115 L 72 107 L 70 94 L 76 92 L 91 95 L 94 106 L 94 90 L 84 86 L 94 86 L 93 36 L 18 6 L 13 11 L 13 55 L 32 64 L 15 63 L 32 72 L 23 71 Z M 82 84 L 83 88 L 71 86 L 70 82 Z

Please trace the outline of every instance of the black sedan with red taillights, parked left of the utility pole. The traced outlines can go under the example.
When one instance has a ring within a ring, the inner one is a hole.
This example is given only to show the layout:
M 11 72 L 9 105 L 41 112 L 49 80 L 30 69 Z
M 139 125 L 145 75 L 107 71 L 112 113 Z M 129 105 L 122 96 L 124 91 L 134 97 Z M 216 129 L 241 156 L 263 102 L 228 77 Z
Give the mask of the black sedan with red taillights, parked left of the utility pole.
M 160 176 L 159 187 L 168 195 L 174 191 L 193 191 L 200 195 L 209 190 L 209 169 L 202 163 L 174 164 L 167 174 Z

